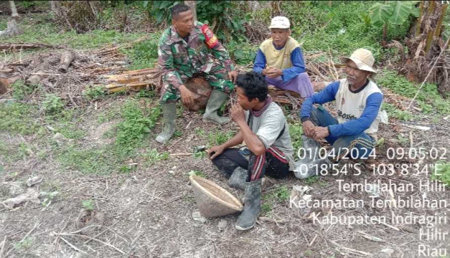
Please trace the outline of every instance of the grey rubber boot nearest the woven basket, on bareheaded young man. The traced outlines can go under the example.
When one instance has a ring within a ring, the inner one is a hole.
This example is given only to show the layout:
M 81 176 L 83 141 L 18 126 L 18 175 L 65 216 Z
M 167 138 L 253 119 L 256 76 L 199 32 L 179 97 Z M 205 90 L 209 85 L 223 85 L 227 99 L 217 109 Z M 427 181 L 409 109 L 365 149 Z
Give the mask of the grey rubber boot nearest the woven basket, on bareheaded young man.
M 249 230 L 255 226 L 261 209 L 261 179 L 246 183 L 245 203 L 237 218 L 237 230 Z

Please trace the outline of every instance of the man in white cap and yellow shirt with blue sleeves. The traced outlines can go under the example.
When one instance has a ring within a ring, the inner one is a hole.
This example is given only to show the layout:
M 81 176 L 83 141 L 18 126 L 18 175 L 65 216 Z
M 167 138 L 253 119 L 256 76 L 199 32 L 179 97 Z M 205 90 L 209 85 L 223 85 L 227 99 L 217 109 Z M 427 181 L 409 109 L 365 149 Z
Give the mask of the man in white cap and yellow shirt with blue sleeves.
M 255 57 L 253 71 L 265 75 L 266 82 L 307 98 L 314 94 L 297 40 L 291 37 L 291 23 L 284 16 L 273 17 L 271 38 L 264 40 Z

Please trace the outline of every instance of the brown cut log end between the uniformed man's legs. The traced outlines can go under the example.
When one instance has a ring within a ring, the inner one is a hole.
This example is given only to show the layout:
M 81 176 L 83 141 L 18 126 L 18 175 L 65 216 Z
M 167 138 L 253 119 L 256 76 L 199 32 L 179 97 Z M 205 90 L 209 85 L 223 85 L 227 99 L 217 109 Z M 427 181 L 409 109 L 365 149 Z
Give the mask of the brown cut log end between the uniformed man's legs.
M 194 93 L 194 102 L 191 105 L 183 104 L 183 107 L 189 111 L 197 112 L 206 108 L 208 100 L 211 96 L 211 85 L 203 77 L 192 77 L 184 84 L 189 91 Z

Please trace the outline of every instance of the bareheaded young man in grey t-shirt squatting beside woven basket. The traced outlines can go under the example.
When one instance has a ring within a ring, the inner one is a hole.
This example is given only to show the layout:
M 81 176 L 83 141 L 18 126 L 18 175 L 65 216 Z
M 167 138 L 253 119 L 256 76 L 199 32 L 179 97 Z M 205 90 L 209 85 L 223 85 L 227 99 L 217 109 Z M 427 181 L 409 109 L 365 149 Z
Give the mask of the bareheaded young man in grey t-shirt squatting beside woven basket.
M 260 73 L 240 74 L 236 80 L 237 104 L 231 118 L 239 132 L 226 143 L 213 146 L 208 153 L 217 168 L 229 178 L 230 186 L 245 190 L 244 209 L 236 229 L 255 225 L 261 207 L 261 179 L 265 174 L 280 179 L 294 168 L 293 147 L 283 111 L 267 95 L 267 83 Z M 246 142 L 250 158 L 233 146 Z

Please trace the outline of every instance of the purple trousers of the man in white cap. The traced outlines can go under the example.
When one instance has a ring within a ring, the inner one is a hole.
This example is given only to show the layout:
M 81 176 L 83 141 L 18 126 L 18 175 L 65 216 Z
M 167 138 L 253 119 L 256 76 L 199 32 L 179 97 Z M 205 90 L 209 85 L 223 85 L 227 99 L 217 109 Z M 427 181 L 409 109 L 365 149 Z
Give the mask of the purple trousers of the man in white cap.
M 268 84 L 274 85 L 276 88 L 296 92 L 303 98 L 311 97 L 314 94 L 311 81 L 309 80 L 306 72 L 302 72 L 288 81 L 283 81 L 281 76 L 273 79 L 266 76 L 266 81 Z

